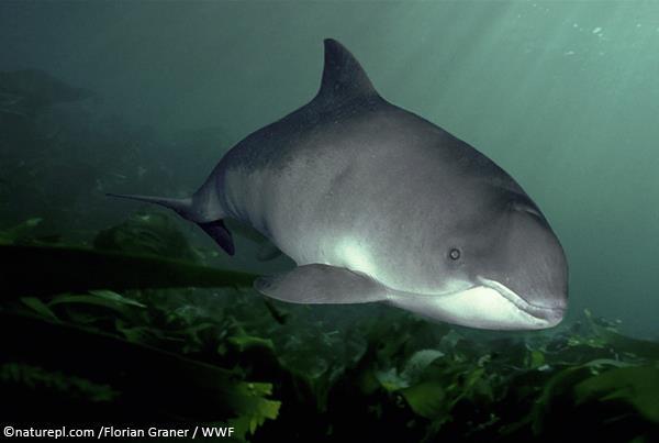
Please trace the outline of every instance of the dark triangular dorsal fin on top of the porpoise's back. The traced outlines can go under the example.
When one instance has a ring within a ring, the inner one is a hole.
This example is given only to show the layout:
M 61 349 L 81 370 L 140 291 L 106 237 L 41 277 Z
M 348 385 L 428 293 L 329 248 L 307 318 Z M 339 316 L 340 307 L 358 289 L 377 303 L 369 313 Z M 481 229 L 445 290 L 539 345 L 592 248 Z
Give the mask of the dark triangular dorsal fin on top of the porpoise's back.
M 314 100 L 338 104 L 353 98 L 378 97 L 359 62 L 340 43 L 326 38 L 321 90 Z

